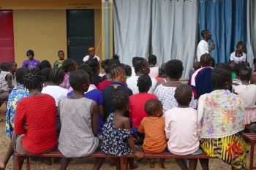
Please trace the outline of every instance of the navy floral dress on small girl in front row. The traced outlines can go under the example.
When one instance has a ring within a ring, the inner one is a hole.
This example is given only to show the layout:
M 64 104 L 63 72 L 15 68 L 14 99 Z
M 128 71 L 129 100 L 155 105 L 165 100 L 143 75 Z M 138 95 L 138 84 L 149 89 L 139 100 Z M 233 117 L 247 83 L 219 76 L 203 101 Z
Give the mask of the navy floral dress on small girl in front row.
M 132 136 L 132 131 L 114 127 L 113 113 L 111 113 L 102 129 L 102 153 L 116 156 L 132 154 L 128 142 L 124 142 L 129 136 Z

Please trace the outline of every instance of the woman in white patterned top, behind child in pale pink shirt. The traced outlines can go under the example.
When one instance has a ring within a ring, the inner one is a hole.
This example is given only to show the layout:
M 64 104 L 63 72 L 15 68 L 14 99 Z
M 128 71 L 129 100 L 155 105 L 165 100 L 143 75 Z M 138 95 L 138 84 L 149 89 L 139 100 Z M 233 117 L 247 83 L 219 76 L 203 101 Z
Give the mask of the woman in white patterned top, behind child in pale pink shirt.
M 168 61 L 165 65 L 167 81 L 158 85 L 156 90 L 154 90 L 154 95 L 156 95 L 158 100 L 162 102 L 164 115 L 167 110 L 178 107 L 176 98 L 174 98 L 174 93 L 177 86 L 182 84 L 178 80 L 181 78 L 183 70 L 184 68 L 181 61 Z M 196 108 L 194 96 L 192 96 L 192 101 L 190 102 L 189 107 Z

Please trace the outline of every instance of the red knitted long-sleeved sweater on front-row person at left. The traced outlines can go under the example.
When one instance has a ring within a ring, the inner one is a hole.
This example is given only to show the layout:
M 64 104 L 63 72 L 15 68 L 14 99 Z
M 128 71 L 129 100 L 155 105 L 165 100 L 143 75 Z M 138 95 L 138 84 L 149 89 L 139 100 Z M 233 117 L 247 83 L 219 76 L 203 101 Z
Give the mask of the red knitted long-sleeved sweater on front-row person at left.
M 23 129 L 24 120 L 29 126 L 28 131 Z M 42 94 L 21 99 L 17 105 L 14 124 L 15 134 L 25 134 L 22 143 L 29 152 L 42 153 L 54 147 L 58 142 L 54 98 Z

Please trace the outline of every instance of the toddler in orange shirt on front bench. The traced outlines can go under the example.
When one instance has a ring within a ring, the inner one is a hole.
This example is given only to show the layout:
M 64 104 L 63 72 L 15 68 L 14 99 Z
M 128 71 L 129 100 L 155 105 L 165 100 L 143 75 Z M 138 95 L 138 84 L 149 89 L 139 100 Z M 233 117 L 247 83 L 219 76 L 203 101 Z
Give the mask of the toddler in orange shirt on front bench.
M 144 117 L 138 129 L 138 136 L 143 141 L 145 152 L 164 152 L 167 147 L 165 141 L 165 118 L 162 117 L 162 103 L 157 99 L 146 101 L 145 111 L 149 117 Z M 144 136 L 144 135 L 145 136 Z M 154 158 L 150 158 L 150 168 L 154 168 Z M 165 158 L 160 158 L 159 167 L 165 169 Z

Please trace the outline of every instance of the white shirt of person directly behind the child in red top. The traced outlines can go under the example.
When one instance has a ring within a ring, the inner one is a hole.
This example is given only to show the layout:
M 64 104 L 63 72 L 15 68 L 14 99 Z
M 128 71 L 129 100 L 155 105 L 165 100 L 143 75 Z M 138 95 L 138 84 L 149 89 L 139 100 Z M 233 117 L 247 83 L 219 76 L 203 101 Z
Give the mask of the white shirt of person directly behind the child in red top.
M 150 77 L 150 78 L 151 78 L 151 81 L 152 81 L 152 86 L 148 90 L 148 93 L 153 94 L 154 89 L 157 88 L 157 80 L 153 77 Z M 132 76 L 132 77 L 129 77 L 129 79 L 127 79 L 127 87 L 132 90 L 132 94 L 138 94 L 139 93 L 139 88 L 137 86 L 138 79 L 139 79 L 138 76 Z

